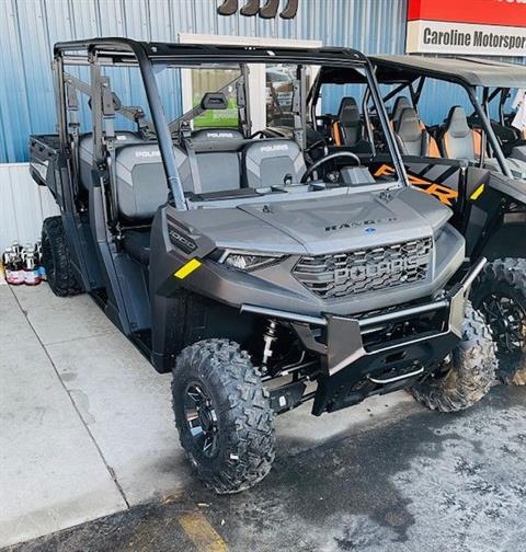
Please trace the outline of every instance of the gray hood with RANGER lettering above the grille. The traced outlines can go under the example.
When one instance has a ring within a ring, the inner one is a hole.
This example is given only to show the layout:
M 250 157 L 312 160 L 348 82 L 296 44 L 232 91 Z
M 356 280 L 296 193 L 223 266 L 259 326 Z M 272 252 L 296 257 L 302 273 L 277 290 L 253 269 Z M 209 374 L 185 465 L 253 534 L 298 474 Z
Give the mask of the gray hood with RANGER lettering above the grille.
M 311 255 L 430 237 L 450 216 L 439 202 L 409 187 L 178 212 L 219 248 Z

